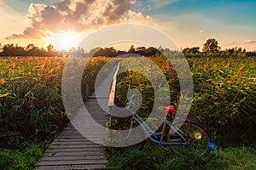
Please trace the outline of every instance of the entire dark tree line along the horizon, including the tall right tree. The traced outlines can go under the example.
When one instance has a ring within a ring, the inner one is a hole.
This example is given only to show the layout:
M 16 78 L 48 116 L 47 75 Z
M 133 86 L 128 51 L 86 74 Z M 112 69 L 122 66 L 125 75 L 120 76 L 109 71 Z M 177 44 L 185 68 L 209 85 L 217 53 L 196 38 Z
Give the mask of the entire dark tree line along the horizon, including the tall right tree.
M 155 56 L 164 52 L 177 52 L 169 48 L 145 48 L 135 47 L 131 45 L 127 51 L 117 50 L 111 48 L 93 48 L 89 52 L 85 52 L 84 48 L 70 48 L 69 50 L 55 50 L 53 45 L 48 45 L 47 48 L 38 48 L 34 44 L 28 44 L 26 47 L 20 47 L 18 44 L 5 44 L 0 43 L 0 56 L 81 56 L 81 57 L 117 57 L 122 54 L 138 54 L 143 56 Z M 207 42 L 203 44 L 202 51 L 200 47 L 183 48 L 183 54 L 187 58 L 191 57 L 252 57 L 256 56 L 256 51 L 247 52 L 242 48 L 228 48 L 221 50 L 218 45 L 218 41 L 214 38 L 209 38 Z

